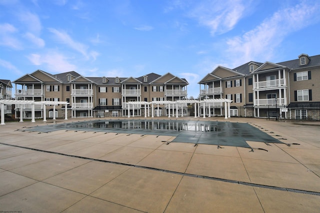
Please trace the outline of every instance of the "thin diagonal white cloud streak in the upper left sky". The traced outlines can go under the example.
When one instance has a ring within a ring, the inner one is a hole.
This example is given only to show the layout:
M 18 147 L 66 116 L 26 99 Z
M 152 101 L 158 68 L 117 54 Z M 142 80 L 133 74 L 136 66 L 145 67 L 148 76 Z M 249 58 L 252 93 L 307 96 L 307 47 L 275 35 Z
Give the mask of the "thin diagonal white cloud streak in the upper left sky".
M 66 32 L 59 31 L 54 28 L 48 28 L 50 32 L 52 32 L 56 38 L 61 42 L 71 47 L 72 49 L 80 52 L 86 58 L 88 58 L 87 49 L 88 47 L 80 42 L 74 41 Z

